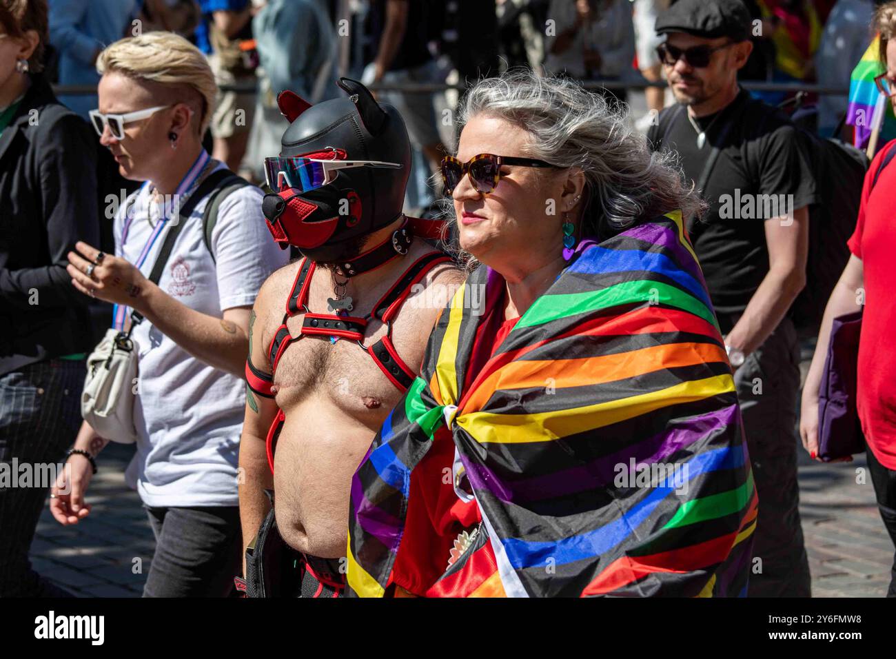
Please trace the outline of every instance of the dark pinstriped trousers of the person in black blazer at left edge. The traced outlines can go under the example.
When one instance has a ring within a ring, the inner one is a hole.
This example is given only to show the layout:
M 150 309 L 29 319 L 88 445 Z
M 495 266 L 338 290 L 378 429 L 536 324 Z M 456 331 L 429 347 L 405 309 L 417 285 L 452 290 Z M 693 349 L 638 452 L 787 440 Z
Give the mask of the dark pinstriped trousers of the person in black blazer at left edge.
M 46 360 L 0 375 L 0 462 L 29 464 L 34 474 L 39 464 L 61 464 L 81 427 L 83 386 L 83 361 Z M 28 559 L 51 485 L 0 486 L 0 597 L 70 595 Z

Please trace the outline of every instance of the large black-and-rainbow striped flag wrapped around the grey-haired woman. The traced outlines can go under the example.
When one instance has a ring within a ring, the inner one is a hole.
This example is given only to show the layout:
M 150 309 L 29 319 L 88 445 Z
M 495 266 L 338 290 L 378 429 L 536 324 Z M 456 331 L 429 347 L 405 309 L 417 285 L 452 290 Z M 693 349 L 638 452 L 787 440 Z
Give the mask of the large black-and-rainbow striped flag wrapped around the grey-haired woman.
M 415 468 L 447 435 L 488 555 L 470 559 L 476 583 L 446 588 L 437 577 L 427 594 L 743 596 L 757 497 L 734 378 L 681 213 L 583 241 L 467 378 L 485 314 L 465 298 L 479 285 L 504 280 L 480 266 L 458 290 L 421 376 L 355 474 L 350 591 L 383 596 L 400 555 L 430 560 L 408 556 L 413 543 L 401 541 L 418 519 L 408 516 Z

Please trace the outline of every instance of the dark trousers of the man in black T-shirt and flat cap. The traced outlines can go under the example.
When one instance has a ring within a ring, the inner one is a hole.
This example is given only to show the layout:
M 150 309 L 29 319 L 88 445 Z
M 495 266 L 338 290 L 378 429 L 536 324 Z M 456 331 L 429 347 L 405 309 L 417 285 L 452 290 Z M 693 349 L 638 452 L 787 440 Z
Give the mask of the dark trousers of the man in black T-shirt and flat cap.
M 733 325 L 722 317 L 719 322 L 726 331 Z M 746 358 L 734 380 L 759 495 L 747 595 L 809 597 L 797 483 L 799 344 L 789 318 Z

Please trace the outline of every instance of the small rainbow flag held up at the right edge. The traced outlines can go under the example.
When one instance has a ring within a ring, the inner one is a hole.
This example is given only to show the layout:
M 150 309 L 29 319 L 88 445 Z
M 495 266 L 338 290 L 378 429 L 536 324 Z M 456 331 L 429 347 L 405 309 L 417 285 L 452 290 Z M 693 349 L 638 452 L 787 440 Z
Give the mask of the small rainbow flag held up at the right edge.
M 884 71 L 878 57 L 880 43 L 880 35 L 875 36 L 865 51 L 865 55 L 862 56 L 856 68 L 852 70 L 852 75 L 849 76 L 849 107 L 846 113 L 846 123 L 849 126 L 855 126 L 853 144 L 859 149 L 865 149 L 868 146 L 875 121 L 880 120 L 880 117 L 875 116 L 874 108 L 881 96 L 877 85 L 874 84 L 874 78 L 883 74 Z M 893 115 L 892 104 L 885 101 L 883 110 L 885 114 L 881 134 L 877 140 L 878 148 L 890 140 L 896 139 L 896 116 Z

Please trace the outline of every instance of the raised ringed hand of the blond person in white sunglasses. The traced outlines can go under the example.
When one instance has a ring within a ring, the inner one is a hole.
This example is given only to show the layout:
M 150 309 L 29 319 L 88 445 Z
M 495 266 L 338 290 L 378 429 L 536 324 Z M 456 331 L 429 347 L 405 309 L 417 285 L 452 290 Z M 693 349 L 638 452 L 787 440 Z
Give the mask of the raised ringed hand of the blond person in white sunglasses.
M 149 280 L 134 265 L 118 256 L 103 254 L 87 243 L 78 242 L 74 247 L 78 251 L 68 253 L 65 269 L 76 289 L 91 298 L 137 308 Z

